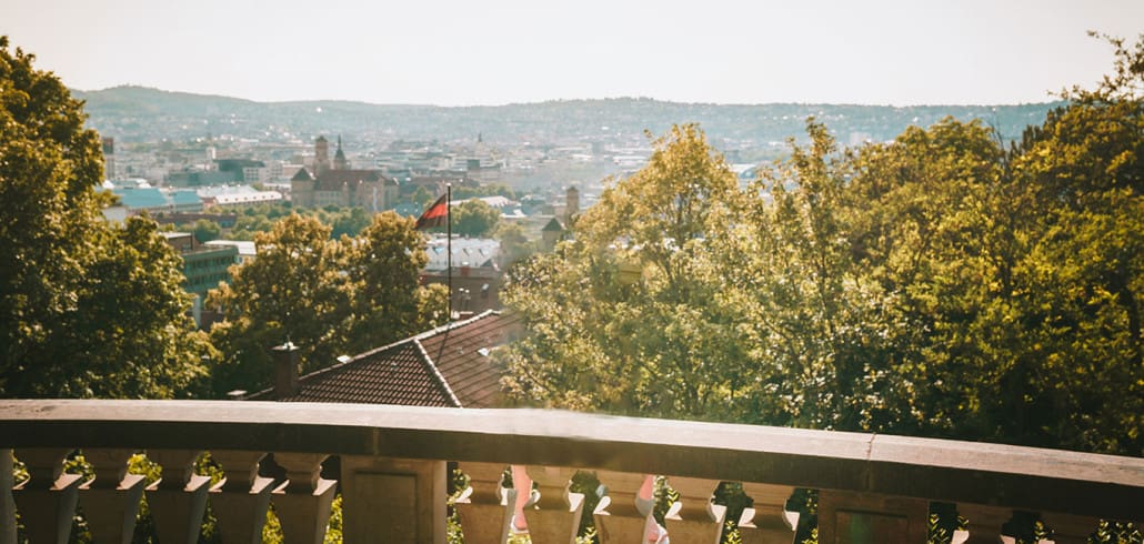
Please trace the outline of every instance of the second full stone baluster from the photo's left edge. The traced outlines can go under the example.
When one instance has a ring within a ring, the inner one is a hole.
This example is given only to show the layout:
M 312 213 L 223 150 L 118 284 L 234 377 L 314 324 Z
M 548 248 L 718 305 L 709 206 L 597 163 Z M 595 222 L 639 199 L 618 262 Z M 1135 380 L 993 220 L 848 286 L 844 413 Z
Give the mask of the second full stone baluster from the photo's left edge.
M 80 502 L 97 542 L 132 542 L 140 499 L 146 487 L 142 474 L 127 473 L 132 455 L 130 449 L 84 450 L 84 458 L 95 467 L 95 479 L 80 486 Z

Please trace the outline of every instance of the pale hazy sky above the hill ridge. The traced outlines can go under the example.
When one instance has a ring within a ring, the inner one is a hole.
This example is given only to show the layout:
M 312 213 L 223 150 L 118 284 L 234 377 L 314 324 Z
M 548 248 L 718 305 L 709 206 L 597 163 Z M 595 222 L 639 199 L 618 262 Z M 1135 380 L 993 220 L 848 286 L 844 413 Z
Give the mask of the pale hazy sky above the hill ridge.
M 71 87 L 257 101 L 1014 104 L 1112 65 L 1144 0 L 0 0 Z

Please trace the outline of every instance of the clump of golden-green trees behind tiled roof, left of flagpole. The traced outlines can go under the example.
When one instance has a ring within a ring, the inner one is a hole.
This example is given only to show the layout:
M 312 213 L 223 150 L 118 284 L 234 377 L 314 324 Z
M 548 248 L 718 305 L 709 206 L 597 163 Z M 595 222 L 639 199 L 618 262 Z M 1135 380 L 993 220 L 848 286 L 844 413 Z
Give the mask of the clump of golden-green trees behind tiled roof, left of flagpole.
M 442 322 L 444 289 L 418 285 L 427 257 L 413 224 L 387 211 L 360 238 L 333 240 L 317 217 L 291 214 L 257 234 L 259 258 L 208 296 L 225 315 L 210 331 L 214 394 L 268 385 L 269 350 L 286 341 L 311 371 Z

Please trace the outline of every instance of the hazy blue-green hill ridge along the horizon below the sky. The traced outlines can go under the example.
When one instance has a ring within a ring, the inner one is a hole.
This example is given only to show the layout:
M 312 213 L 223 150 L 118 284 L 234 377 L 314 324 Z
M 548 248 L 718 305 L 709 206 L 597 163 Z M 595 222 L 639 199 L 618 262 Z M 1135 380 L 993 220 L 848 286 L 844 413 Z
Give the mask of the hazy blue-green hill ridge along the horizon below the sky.
M 643 142 L 672 123 L 699 122 L 717 146 L 762 146 L 802 136 L 808 115 L 842 144 L 853 138 L 890 139 L 907 126 L 929 126 L 952 115 L 982 119 L 1007 139 L 1038 125 L 1059 103 L 1022 105 L 868 106 L 837 104 L 682 104 L 650 98 L 553 101 L 503 106 L 445 107 L 308 101 L 262 103 L 144 87 L 73 90 L 86 101 L 89 125 L 124 142 L 233 135 L 261 141 L 344 134 L 358 143 L 403 139 L 523 142 Z M 284 136 L 288 134 L 288 136 Z

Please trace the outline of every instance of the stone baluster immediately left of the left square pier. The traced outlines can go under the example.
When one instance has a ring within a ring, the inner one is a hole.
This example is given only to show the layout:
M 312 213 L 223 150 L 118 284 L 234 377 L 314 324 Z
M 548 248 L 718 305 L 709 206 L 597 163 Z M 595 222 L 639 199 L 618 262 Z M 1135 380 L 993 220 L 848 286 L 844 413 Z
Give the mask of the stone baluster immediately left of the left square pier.
M 287 480 L 273 490 L 272 501 L 286 544 L 321 544 L 329 525 L 337 481 L 321 478 L 326 454 L 275 454 Z M 343 502 L 344 503 L 344 502 Z

